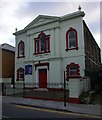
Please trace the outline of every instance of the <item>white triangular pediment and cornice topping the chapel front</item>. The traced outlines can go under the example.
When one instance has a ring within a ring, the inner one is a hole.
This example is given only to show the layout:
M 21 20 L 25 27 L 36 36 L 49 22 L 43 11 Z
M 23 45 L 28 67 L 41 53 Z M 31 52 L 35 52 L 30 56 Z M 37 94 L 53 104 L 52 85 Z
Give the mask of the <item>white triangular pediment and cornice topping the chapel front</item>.
M 45 25 L 45 24 L 49 24 L 52 22 L 61 22 L 61 21 L 65 21 L 68 19 L 73 19 L 73 18 L 77 18 L 77 17 L 84 17 L 85 13 L 82 11 L 77 11 L 77 12 L 73 12 L 64 16 L 48 16 L 48 15 L 39 15 L 38 17 L 36 17 L 31 23 L 29 23 L 24 29 L 20 30 L 20 31 L 16 31 L 15 33 L 13 33 L 13 35 L 17 35 L 23 32 L 26 32 L 29 29 L 41 26 L 41 25 Z

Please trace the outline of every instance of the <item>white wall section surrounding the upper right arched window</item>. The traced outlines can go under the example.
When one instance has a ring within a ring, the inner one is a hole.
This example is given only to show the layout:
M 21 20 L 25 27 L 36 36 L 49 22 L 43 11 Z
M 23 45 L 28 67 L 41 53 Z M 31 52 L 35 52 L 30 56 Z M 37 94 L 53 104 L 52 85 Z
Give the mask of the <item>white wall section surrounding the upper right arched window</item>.
M 78 33 L 78 50 L 69 50 L 66 52 L 66 32 L 73 27 Z M 83 23 L 82 18 L 71 19 L 61 24 L 61 55 L 63 57 L 71 57 L 84 55 L 84 38 L 83 38 Z

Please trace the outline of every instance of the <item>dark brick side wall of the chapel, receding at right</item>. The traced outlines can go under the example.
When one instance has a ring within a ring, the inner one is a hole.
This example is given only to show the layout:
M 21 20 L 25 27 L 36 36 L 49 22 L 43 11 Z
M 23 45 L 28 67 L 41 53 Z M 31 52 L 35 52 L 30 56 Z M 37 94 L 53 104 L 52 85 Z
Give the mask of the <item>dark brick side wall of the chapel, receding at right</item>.
M 101 65 L 101 51 L 88 27 L 84 24 L 85 68 L 89 71 L 98 69 Z

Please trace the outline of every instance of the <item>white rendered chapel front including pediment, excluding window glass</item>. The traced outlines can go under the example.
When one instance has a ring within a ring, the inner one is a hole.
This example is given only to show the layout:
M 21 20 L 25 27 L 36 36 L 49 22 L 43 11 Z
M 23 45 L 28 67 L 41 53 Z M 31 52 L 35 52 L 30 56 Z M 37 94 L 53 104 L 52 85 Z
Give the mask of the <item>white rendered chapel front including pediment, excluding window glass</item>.
M 34 83 L 37 83 L 37 88 L 41 88 L 41 86 L 44 88 L 43 83 L 40 81 L 41 77 L 44 77 L 47 82 L 47 84 L 44 83 L 46 84 L 46 88 L 60 89 L 63 88 L 62 84 L 64 83 L 64 71 L 66 72 L 66 67 L 74 63 L 79 66 L 79 76 L 69 77 L 66 80 L 69 97 L 77 99 L 83 89 L 89 89 L 88 84 L 84 84 L 85 81 L 82 80 L 85 76 L 84 15 L 84 12 L 81 11 L 62 17 L 39 15 L 23 30 L 15 32 L 15 82 L 31 83 L 32 87 Z M 77 31 L 77 49 L 66 50 L 66 36 L 70 28 Z M 39 39 L 41 32 L 49 36 L 49 48 L 46 48 L 49 51 L 36 54 L 35 41 Z M 18 46 L 21 41 L 24 43 L 23 57 L 20 57 L 18 53 Z M 31 74 L 25 74 L 25 66 L 27 65 L 31 66 Z M 23 68 L 24 70 L 23 80 L 17 80 L 17 70 L 19 68 Z M 41 70 L 44 70 L 46 75 Z M 58 85 L 51 86 L 51 83 L 58 83 Z

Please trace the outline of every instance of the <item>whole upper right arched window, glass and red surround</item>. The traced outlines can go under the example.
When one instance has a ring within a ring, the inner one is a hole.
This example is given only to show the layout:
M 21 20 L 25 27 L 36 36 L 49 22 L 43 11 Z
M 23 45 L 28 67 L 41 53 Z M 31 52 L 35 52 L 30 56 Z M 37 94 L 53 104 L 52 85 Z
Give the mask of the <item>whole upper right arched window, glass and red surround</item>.
M 70 28 L 66 32 L 66 50 L 78 49 L 78 36 L 74 28 Z

